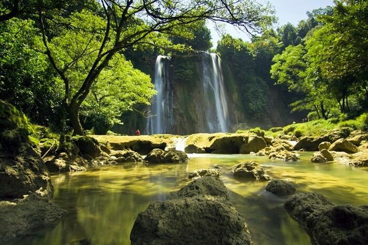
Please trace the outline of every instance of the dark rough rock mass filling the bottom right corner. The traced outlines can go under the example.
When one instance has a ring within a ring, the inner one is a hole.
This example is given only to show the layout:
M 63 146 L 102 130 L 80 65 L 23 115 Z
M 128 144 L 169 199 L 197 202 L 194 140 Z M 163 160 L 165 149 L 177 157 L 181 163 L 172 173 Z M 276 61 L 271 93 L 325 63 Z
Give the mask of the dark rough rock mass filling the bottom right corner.
M 321 194 L 299 193 L 284 207 L 320 245 L 367 244 L 368 206 L 335 206 Z

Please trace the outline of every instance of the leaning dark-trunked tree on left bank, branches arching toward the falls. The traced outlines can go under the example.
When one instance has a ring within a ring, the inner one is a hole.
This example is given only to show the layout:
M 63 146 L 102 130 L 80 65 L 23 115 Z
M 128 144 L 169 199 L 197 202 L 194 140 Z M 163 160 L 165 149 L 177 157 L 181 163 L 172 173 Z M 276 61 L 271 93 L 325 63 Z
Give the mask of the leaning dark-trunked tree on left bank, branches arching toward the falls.
M 49 13 L 39 10 L 38 20 L 42 33 L 45 54 L 65 85 L 64 104 L 70 118 L 74 134 L 83 135 L 78 111 L 87 98 L 91 87 L 96 83 L 101 72 L 118 52 L 131 46 L 160 46 L 170 45 L 164 41 L 166 35 L 176 34 L 185 36 L 186 27 L 203 19 L 222 21 L 233 24 L 248 32 L 260 32 L 262 27 L 268 26 L 274 20 L 272 11 L 262 7 L 256 1 L 109 1 L 102 0 L 102 13 L 86 13 L 97 25 L 79 27 L 73 25 L 78 14 L 69 19 L 59 13 Z M 54 15 L 52 15 L 54 14 Z M 99 19 L 98 19 L 99 18 Z M 67 27 L 67 28 L 66 28 Z M 54 30 L 62 29 L 63 37 L 54 37 Z M 64 28 L 64 29 L 63 29 Z M 72 34 L 67 34 L 65 31 Z M 60 51 L 53 45 L 53 39 L 67 39 L 82 32 L 85 37 L 76 46 L 63 46 L 65 53 L 70 53 L 68 62 L 60 62 L 56 54 Z M 73 34 L 74 33 L 74 34 Z M 166 39 L 167 40 L 167 39 Z M 57 50 L 57 51 L 56 51 Z M 69 76 L 71 69 L 78 68 L 82 58 L 87 59 L 85 68 L 80 76 Z M 79 85 L 77 85 L 79 84 Z M 75 90 L 75 93 L 73 93 Z M 73 94 L 73 95 L 72 95 Z

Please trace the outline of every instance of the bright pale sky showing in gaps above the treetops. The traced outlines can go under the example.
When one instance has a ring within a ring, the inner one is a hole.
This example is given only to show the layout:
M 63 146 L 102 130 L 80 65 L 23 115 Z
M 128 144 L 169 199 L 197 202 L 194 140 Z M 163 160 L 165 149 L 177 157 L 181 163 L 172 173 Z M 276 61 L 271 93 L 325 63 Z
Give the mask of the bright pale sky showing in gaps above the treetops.
M 313 9 L 325 8 L 333 6 L 333 0 L 268 0 L 275 8 L 275 15 L 279 18 L 279 23 L 275 26 L 283 26 L 288 22 L 297 25 L 302 19 L 307 18 L 307 11 Z M 212 43 L 214 48 L 217 46 L 217 41 L 220 36 L 214 28 L 214 25 L 209 23 L 211 30 Z M 232 26 L 226 26 L 226 32 L 233 37 L 249 40 L 249 36 Z

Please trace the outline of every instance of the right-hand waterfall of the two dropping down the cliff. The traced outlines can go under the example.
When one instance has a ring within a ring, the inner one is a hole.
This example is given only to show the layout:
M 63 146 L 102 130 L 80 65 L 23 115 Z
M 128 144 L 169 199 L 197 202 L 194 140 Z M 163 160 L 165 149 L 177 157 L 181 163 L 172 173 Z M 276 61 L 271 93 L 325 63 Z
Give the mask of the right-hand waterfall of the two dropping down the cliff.
M 217 54 L 203 53 L 202 65 L 205 122 L 209 132 L 227 132 L 228 107 L 221 71 L 221 59 Z

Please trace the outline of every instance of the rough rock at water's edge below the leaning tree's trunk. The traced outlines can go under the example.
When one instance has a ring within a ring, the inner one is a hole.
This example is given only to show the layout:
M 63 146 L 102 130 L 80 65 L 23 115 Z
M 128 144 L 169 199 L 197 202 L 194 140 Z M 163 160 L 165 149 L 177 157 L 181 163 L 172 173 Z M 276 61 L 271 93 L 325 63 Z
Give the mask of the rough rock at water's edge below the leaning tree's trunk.
M 52 173 L 65 173 L 86 170 L 87 161 L 79 159 L 79 163 L 75 159 L 71 159 L 65 152 L 61 152 L 54 157 L 45 159 L 45 165 Z

